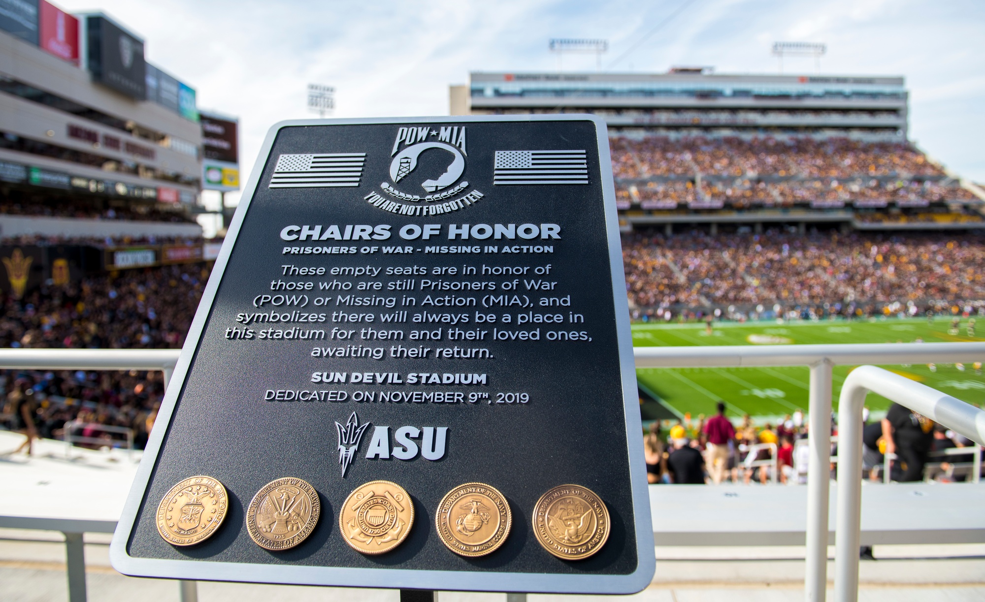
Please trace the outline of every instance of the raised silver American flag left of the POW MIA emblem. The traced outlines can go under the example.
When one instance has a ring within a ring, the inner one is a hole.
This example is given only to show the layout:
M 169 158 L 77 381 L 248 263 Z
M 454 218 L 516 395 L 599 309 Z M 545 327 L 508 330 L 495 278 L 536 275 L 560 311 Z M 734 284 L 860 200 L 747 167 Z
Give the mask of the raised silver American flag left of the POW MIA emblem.
M 277 158 L 271 188 L 333 188 L 359 186 L 365 152 L 282 154 Z

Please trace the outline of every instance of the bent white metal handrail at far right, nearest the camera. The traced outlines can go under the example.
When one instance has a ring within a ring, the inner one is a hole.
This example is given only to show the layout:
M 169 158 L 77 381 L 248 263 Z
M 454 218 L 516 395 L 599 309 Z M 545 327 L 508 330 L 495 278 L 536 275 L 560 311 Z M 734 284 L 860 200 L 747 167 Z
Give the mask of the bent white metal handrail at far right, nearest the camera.
M 861 366 L 838 396 L 838 501 L 834 532 L 834 600 L 858 600 L 862 517 L 862 408 L 873 391 L 978 444 L 985 442 L 985 411 L 876 366 Z

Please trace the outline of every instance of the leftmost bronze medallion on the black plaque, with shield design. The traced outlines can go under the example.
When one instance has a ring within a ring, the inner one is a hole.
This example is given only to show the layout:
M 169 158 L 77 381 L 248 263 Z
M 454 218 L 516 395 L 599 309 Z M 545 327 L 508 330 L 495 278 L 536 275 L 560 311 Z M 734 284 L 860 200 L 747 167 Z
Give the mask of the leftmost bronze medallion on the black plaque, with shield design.
M 164 494 L 158 505 L 158 532 L 173 546 L 193 546 L 212 537 L 228 508 L 222 483 L 210 476 L 188 477 Z

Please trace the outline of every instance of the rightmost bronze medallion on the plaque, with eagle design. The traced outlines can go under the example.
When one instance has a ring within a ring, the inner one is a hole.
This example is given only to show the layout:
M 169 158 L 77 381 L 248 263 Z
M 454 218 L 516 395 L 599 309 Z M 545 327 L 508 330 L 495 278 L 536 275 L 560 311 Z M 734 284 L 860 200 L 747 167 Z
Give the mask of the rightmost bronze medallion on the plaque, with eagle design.
M 609 539 L 609 509 L 592 490 L 560 485 L 534 506 L 534 535 L 544 549 L 563 560 L 584 560 Z

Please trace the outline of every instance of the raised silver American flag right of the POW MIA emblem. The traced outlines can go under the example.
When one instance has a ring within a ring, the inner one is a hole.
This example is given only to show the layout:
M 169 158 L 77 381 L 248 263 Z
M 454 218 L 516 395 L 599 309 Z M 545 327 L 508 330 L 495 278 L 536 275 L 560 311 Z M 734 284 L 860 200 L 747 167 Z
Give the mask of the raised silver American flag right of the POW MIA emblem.
M 588 184 L 585 151 L 495 151 L 493 184 Z

